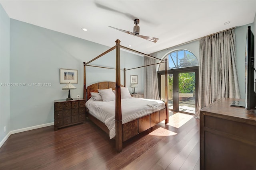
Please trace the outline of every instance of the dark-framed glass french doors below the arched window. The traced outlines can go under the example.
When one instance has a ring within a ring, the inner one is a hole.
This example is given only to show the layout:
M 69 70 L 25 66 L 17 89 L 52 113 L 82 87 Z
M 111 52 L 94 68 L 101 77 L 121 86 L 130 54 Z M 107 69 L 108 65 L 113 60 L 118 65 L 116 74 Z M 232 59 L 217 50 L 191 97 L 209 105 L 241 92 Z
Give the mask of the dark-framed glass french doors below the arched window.
M 172 111 L 196 113 L 198 66 L 170 69 L 168 74 L 168 106 Z M 158 71 L 159 96 L 164 101 L 165 73 Z

